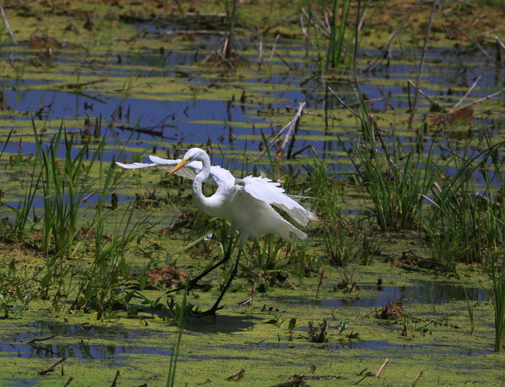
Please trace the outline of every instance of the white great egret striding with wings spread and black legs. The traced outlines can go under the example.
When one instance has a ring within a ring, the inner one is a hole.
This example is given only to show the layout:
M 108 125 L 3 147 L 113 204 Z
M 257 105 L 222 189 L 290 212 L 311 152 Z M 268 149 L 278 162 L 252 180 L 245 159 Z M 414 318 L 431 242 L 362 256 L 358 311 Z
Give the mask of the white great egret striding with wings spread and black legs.
M 289 243 L 293 243 L 291 232 L 300 239 L 306 239 L 307 234 L 300 231 L 286 221 L 272 206 L 280 208 L 293 220 L 302 226 L 307 226 L 310 220 L 316 220 L 313 212 L 300 206 L 292 197 L 287 196 L 280 183 L 265 177 L 247 176 L 236 179 L 230 171 L 218 166 L 211 166 L 207 153 L 199 148 L 192 148 L 186 152 L 182 160 L 166 160 L 157 156 L 149 156 L 152 163 L 121 164 L 123 168 L 136 169 L 145 167 L 159 167 L 172 174 L 193 179 L 193 200 L 201 211 L 207 215 L 226 219 L 231 224 L 228 251 L 224 258 L 210 269 L 193 278 L 189 286 L 193 287 L 198 280 L 219 267 L 231 257 L 231 248 L 236 231 L 240 231 L 238 256 L 233 271 L 230 274 L 221 295 L 214 306 L 203 315 L 215 315 L 224 293 L 237 274 L 240 253 L 249 236 L 259 238 L 261 235 L 273 233 Z M 216 193 L 207 198 L 201 192 L 204 181 L 213 181 L 218 185 Z

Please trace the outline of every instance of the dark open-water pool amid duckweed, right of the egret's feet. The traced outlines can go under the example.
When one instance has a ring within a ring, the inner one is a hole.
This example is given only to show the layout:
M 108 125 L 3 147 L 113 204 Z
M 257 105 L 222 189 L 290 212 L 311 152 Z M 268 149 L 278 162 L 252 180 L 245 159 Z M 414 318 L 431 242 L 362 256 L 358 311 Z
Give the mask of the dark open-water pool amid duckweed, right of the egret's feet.
M 490 291 L 479 288 L 463 288 L 462 286 L 434 281 L 416 280 L 411 286 L 390 285 L 360 285 L 361 291 L 345 298 L 330 298 L 316 300 L 315 298 L 288 298 L 282 301 L 288 304 L 312 305 L 323 308 L 365 307 L 380 308 L 391 301 L 402 299 L 403 304 L 444 304 L 450 301 L 469 300 L 487 302 Z M 372 293 L 373 292 L 373 293 Z

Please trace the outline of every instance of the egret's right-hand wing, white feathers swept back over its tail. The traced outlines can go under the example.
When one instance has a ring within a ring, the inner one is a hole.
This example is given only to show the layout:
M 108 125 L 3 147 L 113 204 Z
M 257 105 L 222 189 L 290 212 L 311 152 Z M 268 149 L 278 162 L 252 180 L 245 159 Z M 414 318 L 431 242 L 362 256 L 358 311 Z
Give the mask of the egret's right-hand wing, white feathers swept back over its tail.
M 247 176 L 238 180 L 237 183 L 244 186 L 245 192 L 250 196 L 271 204 L 285 211 L 293 220 L 303 226 L 307 226 L 309 220 L 316 220 L 313 212 L 305 209 L 287 196 L 280 183 L 273 182 L 264 177 Z

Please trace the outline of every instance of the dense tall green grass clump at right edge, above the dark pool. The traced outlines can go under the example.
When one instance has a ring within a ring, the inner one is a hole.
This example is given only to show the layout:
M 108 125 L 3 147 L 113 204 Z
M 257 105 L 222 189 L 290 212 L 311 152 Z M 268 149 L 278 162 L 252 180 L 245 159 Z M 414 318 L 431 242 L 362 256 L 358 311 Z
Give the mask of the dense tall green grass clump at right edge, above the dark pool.
M 472 143 L 470 147 L 470 143 Z M 433 185 L 430 226 L 431 251 L 441 265 L 453 270 L 458 263 L 477 263 L 488 267 L 490 257 L 505 246 L 505 215 L 501 191 L 502 163 L 493 157 L 503 142 L 492 144 L 488 131 L 465 143 L 448 148 L 456 173 L 443 174 Z M 490 167 L 485 160 L 491 158 Z M 484 192 L 476 189 L 475 173 L 484 176 Z

